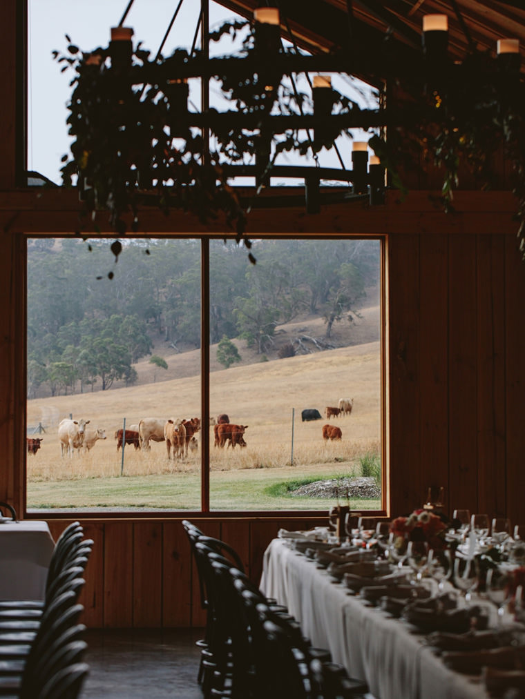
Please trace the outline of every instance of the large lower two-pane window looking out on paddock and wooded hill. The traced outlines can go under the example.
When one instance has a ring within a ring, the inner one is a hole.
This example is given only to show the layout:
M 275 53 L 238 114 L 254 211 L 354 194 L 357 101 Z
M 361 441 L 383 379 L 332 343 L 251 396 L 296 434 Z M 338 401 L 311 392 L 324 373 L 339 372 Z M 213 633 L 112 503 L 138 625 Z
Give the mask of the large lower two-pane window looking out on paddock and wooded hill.
M 201 419 L 200 241 L 130 240 L 118 264 L 109 245 L 28 241 L 29 511 L 200 510 L 202 469 L 211 510 L 381 507 L 379 240 L 257 240 L 255 266 L 210 241 L 209 409 L 229 425 L 171 459 L 116 434 Z M 90 449 L 62 449 L 62 419 L 89 420 Z

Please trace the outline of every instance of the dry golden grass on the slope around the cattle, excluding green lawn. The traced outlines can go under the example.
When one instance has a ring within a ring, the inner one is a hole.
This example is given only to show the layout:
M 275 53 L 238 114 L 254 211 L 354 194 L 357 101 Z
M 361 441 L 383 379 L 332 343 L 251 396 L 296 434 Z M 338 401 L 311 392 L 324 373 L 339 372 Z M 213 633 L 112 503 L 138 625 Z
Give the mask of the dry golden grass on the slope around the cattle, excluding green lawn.
M 337 405 L 340 397 L 354 398 L 349 417 L 330 420 L 342 429 L 341 442 L 325 443 L 321 420 L 302 422 L 303 408 Z M 346 470 L 350 473 L 365 452 L 379 452 L 380 356 L 379 343 L 341 347 L 316 354 L 295 356 L 248 366 L 235 366 L 211 374 L 212 415 L 226 412 L 230 421 L 248 425 L 245 449 L 211 449 L 211 469 L 221 473 L 248 469 L 288 472 L 292 450 L 293 473 Z M 293 412 L 295 417 L 293 419 Z M 62 459 L 57 425 L 63 417 L 90 419 L 91 427 L 106 429 L 88 454 Z M 71 481 L 111 479 L 120 476 L 122 452 L 116 451 L 115 431 L 138 423 L 141 417 L 193 417 L 200 415 L 200 379 L 184 377 L 155 384 L 111 389 L 74 396 L 37 398 L 27 403 L 28 424 L 42 422 L 46 433 L 40 451 L 28 456 L 28 505 L 38 490 L 38 502 L 59 506 L 60 484 Z M 213 431 L 210 428 L 211 444 Z M 124 474 L 162 476 L 195 475 L 200 453 L 185 461 L 168 461 L 164 442 L 153 443 L 151 452 L 125 449 Z M 280 472 L 279 472 L 280 473 Z M 38 489 L 36 484 L 38 483 Z M 31 485 L 34 484 L 34 489 Z M 45 484 L 48 492 L 42 491 Z M 121 503 L 125 505 L 126 503 Z

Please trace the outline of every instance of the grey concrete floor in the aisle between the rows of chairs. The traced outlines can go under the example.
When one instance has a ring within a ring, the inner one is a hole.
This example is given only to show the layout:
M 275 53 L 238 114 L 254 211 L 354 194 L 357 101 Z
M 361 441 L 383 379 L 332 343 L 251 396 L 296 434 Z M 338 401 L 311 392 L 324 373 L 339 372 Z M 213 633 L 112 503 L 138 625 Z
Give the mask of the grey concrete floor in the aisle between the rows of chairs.
M 88 630 L 80 699 L 202 699 L 199 638 L 202 630 Z

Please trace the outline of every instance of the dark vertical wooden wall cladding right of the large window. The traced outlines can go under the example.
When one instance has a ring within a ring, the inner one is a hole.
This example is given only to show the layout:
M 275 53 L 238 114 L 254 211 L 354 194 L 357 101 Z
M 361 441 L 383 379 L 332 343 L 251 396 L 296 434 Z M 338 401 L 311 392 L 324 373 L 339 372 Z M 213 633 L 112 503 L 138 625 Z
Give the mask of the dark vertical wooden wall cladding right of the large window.
M 525 264 L 515 236 L 437 229 L 388 245 L 391 513 L 445 507 L 525 522 Z

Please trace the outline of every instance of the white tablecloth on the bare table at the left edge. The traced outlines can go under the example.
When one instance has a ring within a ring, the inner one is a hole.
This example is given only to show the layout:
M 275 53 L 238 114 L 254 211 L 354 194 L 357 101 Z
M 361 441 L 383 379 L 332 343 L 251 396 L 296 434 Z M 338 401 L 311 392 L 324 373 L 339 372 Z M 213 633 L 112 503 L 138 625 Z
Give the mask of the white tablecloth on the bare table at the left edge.
M 41 600 L 55 548 L 45 521 L 0 524 L 0 599 Z

